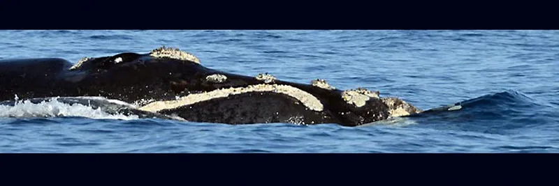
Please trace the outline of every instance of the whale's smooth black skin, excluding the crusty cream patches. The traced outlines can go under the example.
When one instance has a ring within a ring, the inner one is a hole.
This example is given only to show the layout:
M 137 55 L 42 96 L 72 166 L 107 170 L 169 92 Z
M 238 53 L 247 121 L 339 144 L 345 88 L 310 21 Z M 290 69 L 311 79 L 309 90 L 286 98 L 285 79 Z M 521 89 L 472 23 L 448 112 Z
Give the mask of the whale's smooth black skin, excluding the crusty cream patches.
M 255 77 L 206 68 L 200 63 L 150 54 L 122 53 L 89 59 L 78 68 L 64 59 L 13 59 L 0 61 L 0 100 L 48 97 L 101 96 L 140 106 L 150 101 L 175 100 L 191 93 L 219 88 L 266 84 Z M 208 82 L 208 75 L 225 75 L 225 82 Z M 164 109 L 161 114 L 181 116 L 187 121 L 229 124 L 337 123 L 356 126 L 389 117 L 389 107 L 369 99 L 362 107 L 348 104 L 342 90 L 325 89 L 276 79 L 267 84 L 289 85 L 314 95 L 322 111 L 279 93 L 244 93 L 215 98 L 185 107 Z M 293 121 L 296 120 L 296 121 Z

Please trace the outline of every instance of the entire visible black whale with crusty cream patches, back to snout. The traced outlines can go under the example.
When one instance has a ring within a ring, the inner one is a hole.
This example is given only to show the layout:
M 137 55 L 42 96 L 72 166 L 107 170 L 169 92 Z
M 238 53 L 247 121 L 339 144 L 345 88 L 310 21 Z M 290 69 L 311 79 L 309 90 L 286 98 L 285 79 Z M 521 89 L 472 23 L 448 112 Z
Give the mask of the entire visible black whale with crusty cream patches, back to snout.
M 194 54 L 173 47 L 84 57 L 77 63 L 3 59 L 0 88 L 0 101 L 94 96 L 130 103 L 137 110 L 131 113 L 231 125 L 358 126 L 423 111 L 379 91 L 335 88 L 326 79 L 301 84 L 268 73 L 251 76 L 208 68 Z

